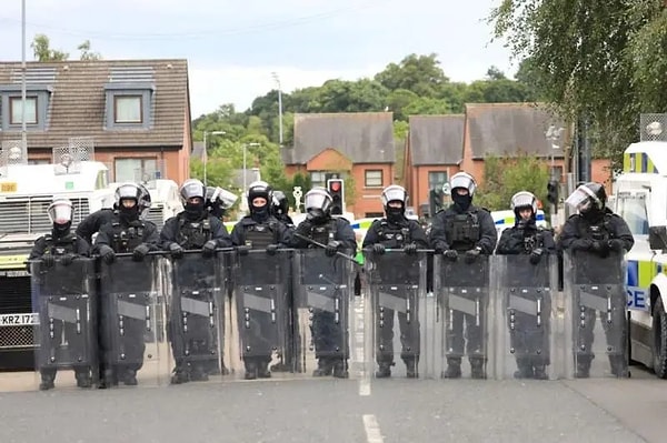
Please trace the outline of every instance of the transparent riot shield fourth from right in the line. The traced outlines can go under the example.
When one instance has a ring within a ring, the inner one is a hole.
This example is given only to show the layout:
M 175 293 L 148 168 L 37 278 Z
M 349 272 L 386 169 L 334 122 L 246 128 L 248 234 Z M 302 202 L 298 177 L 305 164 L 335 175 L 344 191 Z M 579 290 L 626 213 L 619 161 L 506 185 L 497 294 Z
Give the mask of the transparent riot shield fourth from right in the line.
M 436 333 L 434 324 L 420 321 L 422 311 L 429 310 L 426 303 L 435 304 L 434 298 L 427 299 L 426 259 L 426 252 L 415 255 L 407 255 L 402 250 L 387 250 L 382 255 L 365 252 L 376 377 L 434 376 L 432 365 L 424 364 L 432 359 L 424 355 L 428 351 L 421 349 L 422 342 L 426 345 L 434 340 L 430 336 L 422 340 L 422 336 Z

